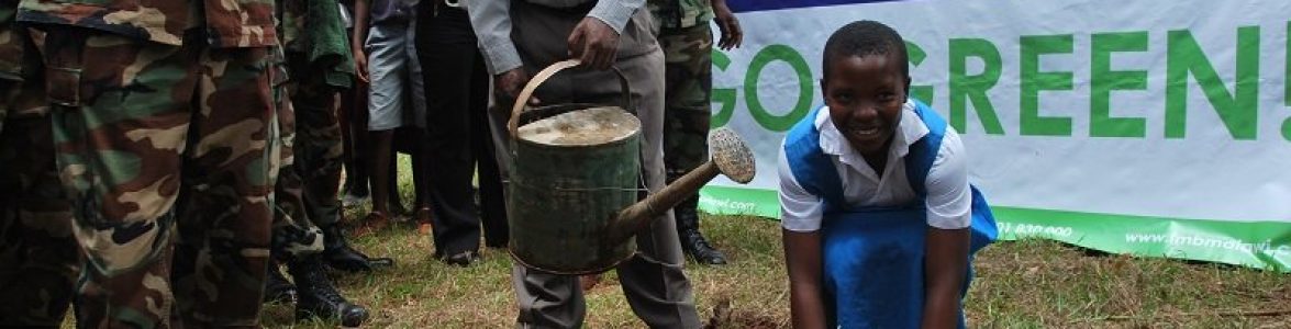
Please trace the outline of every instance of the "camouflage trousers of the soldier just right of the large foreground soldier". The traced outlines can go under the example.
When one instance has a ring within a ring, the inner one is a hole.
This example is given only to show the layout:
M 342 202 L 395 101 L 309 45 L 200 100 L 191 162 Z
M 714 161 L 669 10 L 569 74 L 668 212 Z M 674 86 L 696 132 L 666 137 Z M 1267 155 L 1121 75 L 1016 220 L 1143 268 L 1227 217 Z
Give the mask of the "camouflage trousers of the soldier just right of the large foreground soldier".
M 275 257 L 323 252 L 319 227 L 337 224 L 341 204 L 341 126 L 337 90 L 312 74 L 302 58 L 289 58 L 292 81 L 278 90 L 281 161 L 275 190 Z

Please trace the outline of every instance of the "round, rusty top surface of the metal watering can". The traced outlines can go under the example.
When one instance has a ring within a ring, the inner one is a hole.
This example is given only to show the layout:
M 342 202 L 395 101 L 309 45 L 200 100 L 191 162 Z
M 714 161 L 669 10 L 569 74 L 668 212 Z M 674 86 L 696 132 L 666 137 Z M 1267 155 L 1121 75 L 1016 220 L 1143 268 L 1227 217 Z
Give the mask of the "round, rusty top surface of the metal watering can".
M 520 126 L 520 139 L 551 146 L 593 146 L 618 142 L 640 132 L 640 121 L 617 106 L 565 112 Z

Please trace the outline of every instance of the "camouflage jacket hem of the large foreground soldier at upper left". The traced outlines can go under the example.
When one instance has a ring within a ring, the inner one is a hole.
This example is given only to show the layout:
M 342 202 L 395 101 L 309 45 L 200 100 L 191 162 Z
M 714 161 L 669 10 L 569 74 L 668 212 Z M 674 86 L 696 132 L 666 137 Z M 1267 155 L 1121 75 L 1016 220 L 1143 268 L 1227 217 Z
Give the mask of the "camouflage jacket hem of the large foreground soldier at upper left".
M 201 14 L 199 14 L 201 13 Z M 214 48 L 274 46 L 274 0 L 22 0 L 18 21 L 71 25 L 168 45 L 203 27 Z

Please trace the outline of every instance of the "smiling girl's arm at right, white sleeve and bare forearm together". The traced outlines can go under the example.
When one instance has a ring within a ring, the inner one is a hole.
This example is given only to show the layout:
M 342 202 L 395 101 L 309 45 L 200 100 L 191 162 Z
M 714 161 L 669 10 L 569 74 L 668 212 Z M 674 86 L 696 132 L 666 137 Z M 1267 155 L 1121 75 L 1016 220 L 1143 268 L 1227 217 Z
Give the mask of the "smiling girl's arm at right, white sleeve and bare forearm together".
M 972 190 L 968 159 L 954 128 L 946 128 L 941 150 L 923 182 L 927 191 L 923 328 L 955 328 L 968 272 Z

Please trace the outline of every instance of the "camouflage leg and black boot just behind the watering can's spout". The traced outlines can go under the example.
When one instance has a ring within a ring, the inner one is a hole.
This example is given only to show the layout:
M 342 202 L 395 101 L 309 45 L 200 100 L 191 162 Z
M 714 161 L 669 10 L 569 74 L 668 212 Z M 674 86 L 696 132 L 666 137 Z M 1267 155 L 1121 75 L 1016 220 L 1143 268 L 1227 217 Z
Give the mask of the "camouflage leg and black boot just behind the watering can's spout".
M 710 92 L 713 90 L 713 31 L 707 25 L 665 28 L 664 48 L 664 164 L 667 182 L 707 161 Z M 687 197 L 673 212 L 682 249 L 704 264 L 724 264 L 726 255 L 700 234 L 698 196 Z

